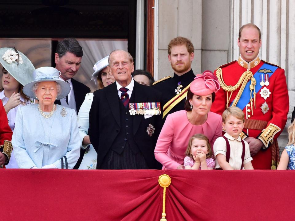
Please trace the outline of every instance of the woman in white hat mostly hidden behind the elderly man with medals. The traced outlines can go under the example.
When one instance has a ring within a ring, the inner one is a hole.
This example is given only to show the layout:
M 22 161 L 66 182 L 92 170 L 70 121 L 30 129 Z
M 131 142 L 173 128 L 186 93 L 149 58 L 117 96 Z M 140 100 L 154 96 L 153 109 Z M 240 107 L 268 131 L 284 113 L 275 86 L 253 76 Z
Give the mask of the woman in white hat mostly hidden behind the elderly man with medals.
M 91 80 L 94 80 L 95 84 L 97 82 L 100 89 L 115 82 L 115 78 L 110 75 L 107 66 L 108 56 L 97 61 L 93 66 L 94 73 L 92 74 Z M 89 111 L 92 104 L 92 99 L 93 93 L 87 94 L 78 113 L 79 133 L 82 143 L 81 148 L 85 149 L 85 151 L 81 151 L 81 154 L 85 154 L 81 155 L 77 162 L 77 165 L 80 165 L 81 163 L 79 169 L 96 169 L 97 153 L 93 146 L 90 145 L 90 139 L 87 135 L 89 128 Z

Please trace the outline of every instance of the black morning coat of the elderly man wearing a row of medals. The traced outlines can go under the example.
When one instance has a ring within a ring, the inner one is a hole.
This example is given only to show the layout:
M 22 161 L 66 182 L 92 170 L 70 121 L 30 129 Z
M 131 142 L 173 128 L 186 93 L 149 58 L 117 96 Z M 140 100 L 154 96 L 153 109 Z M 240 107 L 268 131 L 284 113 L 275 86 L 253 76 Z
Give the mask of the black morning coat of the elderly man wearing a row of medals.
M 92 106 L 89 112 L 90 142 L 97 152 L 97 166 L 100 168 L 105 155 L 110 151 L 112 143 L 121 129 L 119 95 L 116 83 L 97 90 L 94 93 Z M 161 93 L 151 87 L 134 81 L 131 98 L 134 103 L 161 102 Z M 162 109 L 162 104 L 161 104 Z M 132 115 L 133 136 L 137 148 L 143 154 L 149 169 L 161 169 L 155 160 L 154 149 L 162 128 L 162 114 L 144 118 L 144 115 Z M 152 136 L 147 133 L 148 126 L 154 126 Z

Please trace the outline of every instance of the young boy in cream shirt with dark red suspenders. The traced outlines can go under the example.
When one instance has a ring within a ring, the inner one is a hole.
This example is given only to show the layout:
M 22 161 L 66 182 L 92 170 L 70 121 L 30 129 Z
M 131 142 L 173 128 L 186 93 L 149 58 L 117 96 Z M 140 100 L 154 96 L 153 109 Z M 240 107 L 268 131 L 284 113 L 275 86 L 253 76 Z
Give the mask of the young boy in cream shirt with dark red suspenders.
M 240 137 L 244 121 L 245 114 L 238 107 L 229 107 L 223 111 L 222 127 L 226 133 L 217 138 L 213 145 L 215 169 L 253 169 L 249 145 Z

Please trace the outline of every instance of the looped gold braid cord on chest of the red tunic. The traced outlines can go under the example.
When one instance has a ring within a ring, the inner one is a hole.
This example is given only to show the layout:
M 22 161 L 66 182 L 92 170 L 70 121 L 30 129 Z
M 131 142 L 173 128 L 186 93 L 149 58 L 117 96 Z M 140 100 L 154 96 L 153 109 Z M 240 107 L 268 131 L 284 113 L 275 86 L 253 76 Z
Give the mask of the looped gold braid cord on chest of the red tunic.
M 233 91 L 237 90 L 240 86 L 240 90 L 238 91 L 238 94 L 236 95 L 234 101 L 233 101 L 233 105 L 232 106 L 236 106 L 244 89 L 245 89 L 245 86 L 247 84 L 247 82 L 251 79 L 251 84 L 250 84 L 250 102 L 251 102 L 251 109 L 252 109 L 252 115 L 253 115 L 253 108 L 252 108 L 252 105 L 253 105 L 253 99 L 252 99 L 252 91 L 254 91 L 253 93 L 253 96 L 254 96 L 254 107 L 256 107 L 255 105 L 255 101 L 256 101 L 256 93 L 255 93 L 255 85 L 256 85 L 256 80 L 255 78 L 253 77 L 253 74 L 252 72 L 250 72 L 249 70 L 245 71 L 242 76 L 240 77 L 240 79 L 238 80 L 238 83 L 236 83 L 236 85 L 234 86 L 227 86 L 224 81 L 223 81 L 223 78 L 222 78 L 222 70 L 221 68 L 218 68 L 217 71 L 216 71 L 216 76 L 218 78 L 218 81 L 220 83 L 220 86 L 222 87 L 222 89 L 224 91 L 227 92 L 227 98 L 226 98 L 226 108 L 228 107 L 229 105 L 229 102 L 230 102 L 230 97 L 233 93 Z M 228 97 L 228 92 L 230 92 L 230 97 Z

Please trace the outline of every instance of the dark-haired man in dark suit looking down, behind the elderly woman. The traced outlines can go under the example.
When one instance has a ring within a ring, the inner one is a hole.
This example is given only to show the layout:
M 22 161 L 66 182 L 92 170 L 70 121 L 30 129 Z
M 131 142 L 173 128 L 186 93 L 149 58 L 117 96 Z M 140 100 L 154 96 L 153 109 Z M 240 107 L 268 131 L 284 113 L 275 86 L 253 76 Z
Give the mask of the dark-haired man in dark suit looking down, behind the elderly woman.
M 56 53 L 54 55 L 55 68 L 61 72 L 60 80 L 64 80 L 71 86 L 71 91 L 65 99 L 57 100 L 54 103 L 72 108 L 79 112 L 79 109 L 85 99 L 87 93 L 90 92 L 89 87 L 72 79 L 80 68 L 83 56 L 82 47 L 74 38 L 66 38 L 57 44 Z M 86 149 L 80 149 L 80 158 L 73 169 L 78 169 L 83 159 Z

